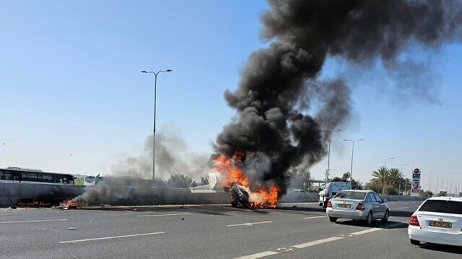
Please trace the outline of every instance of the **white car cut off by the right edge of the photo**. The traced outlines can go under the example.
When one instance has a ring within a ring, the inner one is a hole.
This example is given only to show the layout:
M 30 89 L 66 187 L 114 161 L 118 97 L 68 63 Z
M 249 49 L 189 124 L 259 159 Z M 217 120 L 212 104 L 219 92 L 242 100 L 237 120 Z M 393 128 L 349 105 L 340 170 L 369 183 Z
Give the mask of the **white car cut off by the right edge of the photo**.
M 411 244 L 462 246 L 462 197 L 432 197 L 409 220 Z

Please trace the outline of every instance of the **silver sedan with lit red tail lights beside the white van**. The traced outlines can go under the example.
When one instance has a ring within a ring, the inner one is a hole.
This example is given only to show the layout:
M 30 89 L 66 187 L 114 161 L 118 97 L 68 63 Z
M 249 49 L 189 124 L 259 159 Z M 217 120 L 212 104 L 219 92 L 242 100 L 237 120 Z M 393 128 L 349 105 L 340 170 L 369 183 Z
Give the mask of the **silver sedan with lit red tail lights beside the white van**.
M 373 220 L 388 221 L 390 209 L 386 200 L 373 190 L 342 190 L 329 200 L 326 214 L 331 222 L 337 218 L 351 218 L 370 225 Z

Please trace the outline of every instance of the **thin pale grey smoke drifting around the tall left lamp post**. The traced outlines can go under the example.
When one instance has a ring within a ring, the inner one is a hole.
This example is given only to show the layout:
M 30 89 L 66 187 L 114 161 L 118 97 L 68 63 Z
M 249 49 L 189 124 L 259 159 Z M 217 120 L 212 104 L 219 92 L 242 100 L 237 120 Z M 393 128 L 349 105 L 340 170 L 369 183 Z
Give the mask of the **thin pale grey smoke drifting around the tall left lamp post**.
M 163 133 L 165 132 L 165 133 Z M 200 179 L 207 170 L 206 154 L 190 153 L 187 142 L 167 125 L 155 134 L 156 179 L 167 180 L 173 174 Z M 146 139 L 144 152 L 128 157 L 111 167 L 111 176 L 104 176 L 97 186 L 88 186 L 74 200 L 80 204 L 164 204 L 173 202 L 162 190 L 153 191 L 153 137 Z

